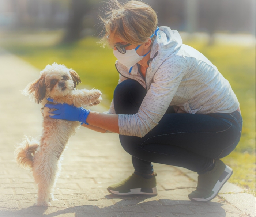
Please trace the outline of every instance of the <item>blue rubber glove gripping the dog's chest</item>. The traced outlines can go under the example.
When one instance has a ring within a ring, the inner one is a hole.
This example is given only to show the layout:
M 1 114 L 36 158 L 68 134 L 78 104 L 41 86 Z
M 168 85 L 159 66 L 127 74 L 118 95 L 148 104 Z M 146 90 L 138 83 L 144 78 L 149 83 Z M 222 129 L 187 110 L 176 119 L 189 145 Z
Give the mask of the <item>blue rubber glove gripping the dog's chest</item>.
M 48 101 L 54 102 L 53 99 L 47 98 Z M 50 108 L 50 109 L 57 109 L 55 111 L 50 112 L 51 114 L 49 117 L 53 119 L 62 119 L 62 120 L 67 120 L 67 121 L 80 121 L 81 124 L 86 123 L 86 118 L 90 113 L 90 109 L 84 109 L 82 107 L 77 108 L 73 105 L 68 105 L 68 104 L 45 104 L 45 107 Z

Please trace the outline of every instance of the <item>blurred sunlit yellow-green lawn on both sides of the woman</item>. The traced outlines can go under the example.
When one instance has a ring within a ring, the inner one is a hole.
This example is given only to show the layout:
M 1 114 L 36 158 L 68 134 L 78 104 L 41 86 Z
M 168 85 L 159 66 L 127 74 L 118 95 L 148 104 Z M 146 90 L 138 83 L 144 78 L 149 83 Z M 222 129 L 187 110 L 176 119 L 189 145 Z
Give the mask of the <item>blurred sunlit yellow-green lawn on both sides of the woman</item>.
M 255 192 L 255 48 L 242 46 L 207 46 L 205 42 L 185 41 L 203 53 L 229 81 L 235 92 L 244 121 L 240 143 L 223 161 L 233 168 L 230 182 Z M 109 105 L 118 81 L 113 51 L 97 45 L 97 39 L 86 38 L 71 45 L 22 45 L 7 43 L 10 52 L 40 70 L 57 62 L 77 71 L 82 83 L 100 89 Z M 39 73 L 39 72 L 38 72 Z

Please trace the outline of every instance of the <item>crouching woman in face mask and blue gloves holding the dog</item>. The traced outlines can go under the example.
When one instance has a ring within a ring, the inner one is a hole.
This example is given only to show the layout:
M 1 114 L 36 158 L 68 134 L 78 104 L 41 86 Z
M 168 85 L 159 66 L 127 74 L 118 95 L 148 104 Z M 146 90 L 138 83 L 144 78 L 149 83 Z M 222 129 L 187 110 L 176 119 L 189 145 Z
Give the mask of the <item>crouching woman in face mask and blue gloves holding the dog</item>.
M 197 172 L 197 189 L 188 197 L 210 201 L 232 174 L 220 158 L 240 140 L 236 95 L 203 54 L 182 44 L 176 30 L 157 27 L 149 5 L 115 0 L 110 5 L 101 42 L 106 39 L 114 48 L 120 79 L 109 111 L 47 105 L 59 109 L 51 117 L 120 134 L 135 171 L 109 186 L 110 193 L 157 194 L 155 162 Z

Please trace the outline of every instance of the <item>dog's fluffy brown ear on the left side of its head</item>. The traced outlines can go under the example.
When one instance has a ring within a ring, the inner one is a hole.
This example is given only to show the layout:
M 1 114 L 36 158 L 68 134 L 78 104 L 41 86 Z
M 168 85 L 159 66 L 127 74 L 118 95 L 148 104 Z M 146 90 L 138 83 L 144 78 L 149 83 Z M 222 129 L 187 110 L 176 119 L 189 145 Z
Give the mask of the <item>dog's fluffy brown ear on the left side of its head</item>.
M 29 83 L 22 91 L 24 95 L 30 95 L 38 104 L 42 102 L 46 95 L 45 77 L 41 76 L 39 79 Z

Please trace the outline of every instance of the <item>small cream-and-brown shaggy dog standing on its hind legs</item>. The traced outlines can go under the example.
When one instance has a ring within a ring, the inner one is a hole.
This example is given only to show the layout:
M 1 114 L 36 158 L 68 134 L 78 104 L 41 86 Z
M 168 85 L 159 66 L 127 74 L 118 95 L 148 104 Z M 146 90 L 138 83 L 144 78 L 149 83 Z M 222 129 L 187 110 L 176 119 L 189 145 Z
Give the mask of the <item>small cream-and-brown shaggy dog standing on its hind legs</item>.
M 67 103 L 75 107 L 97 105 L 101 102 L 101 92 L 96 89 L 77 90 L 81 82 L 79 75 L 64 65 L 53 63 L 47 65 L 40 72 L 39 79 L 29 83 L 23 90 L 24 95 L 29 95 L 36 103 L 44 106 L 51 103 L 47 98 L 52 98 L 54 103 Z M 18 144 L 15 150 L 17 164 L 21 168 L 31 169 L 35 183 L 38 186 L 38 196 L 35 205 L 50 206 L 54 200 L 53 192 L 61 170 L 62 153 L 69 137 L 75 134 L 80 127 L 78 121 L 65 121 L 50 118 L 54 109 L 43 107 L 43 130 L 40 139 L 26 137 Z

